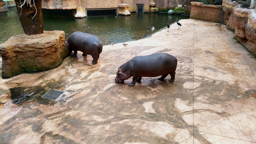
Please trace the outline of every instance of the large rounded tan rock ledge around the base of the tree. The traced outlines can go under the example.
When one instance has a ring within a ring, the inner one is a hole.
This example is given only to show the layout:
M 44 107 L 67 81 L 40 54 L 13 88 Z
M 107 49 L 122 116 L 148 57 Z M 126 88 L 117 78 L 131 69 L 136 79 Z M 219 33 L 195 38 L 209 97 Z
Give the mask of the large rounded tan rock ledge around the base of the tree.
M 49 70 L 61 65 L 69 55 L 63 31 L 44 31 L 38 35 L 12 36 L 0 44 L 2 78 L 24 72 Z

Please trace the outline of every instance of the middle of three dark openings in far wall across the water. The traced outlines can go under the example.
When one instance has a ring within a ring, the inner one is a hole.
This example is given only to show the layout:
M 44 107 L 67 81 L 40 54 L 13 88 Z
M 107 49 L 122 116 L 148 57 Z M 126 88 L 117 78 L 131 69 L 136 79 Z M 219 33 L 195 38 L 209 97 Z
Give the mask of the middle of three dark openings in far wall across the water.
M 86 10 L 86 16 L 107 16 L 107 15 L 117 15 L 117 9 L 91 9 Z

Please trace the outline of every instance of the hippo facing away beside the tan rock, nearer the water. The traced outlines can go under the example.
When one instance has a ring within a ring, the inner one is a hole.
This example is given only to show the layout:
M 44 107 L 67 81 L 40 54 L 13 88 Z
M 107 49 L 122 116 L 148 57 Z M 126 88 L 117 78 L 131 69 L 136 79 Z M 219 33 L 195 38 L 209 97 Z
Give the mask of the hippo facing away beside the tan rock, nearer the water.
M 72 56 L 76 56 L 77 51 L 82 51 L 83 56 L 87 54 L 92 56 L 92 64 L 98 62 L 99 54 L 102 51 L 102 43 L 97 36 L 83 32 L 74 32 L 67 38 L 65 43 L 70 53 L 74 51 Z

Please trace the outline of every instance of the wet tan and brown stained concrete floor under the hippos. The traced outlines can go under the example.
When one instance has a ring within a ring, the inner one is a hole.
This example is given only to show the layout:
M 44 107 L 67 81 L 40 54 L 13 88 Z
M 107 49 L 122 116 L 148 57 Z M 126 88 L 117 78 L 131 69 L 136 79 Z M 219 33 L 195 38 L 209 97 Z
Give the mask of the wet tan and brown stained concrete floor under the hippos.
M 0 143 L 256 143 L 256 59 L 223 24 L 180 23 L 104 46 L 96 65 L 79 52 L 56 69 L 0 79 Z M 123 63 L 159 52 L 178 59 L 174 83 L 115 83 Z M 42 97 L 51 89 L 64 93 Z

